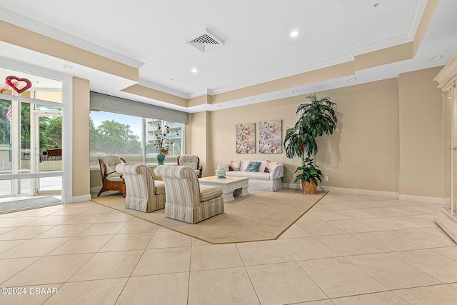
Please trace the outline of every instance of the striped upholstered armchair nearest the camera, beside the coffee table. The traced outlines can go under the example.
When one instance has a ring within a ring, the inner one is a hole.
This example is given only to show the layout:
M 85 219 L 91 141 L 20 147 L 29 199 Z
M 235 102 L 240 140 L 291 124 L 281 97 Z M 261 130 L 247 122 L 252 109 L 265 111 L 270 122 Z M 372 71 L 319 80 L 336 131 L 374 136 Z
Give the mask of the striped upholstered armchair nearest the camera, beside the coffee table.
M 165 184 L 165 216 L 196 224 L 224 213 L 222 189 L 200 186 L 189 166 L 157 166 L 154 170 Z

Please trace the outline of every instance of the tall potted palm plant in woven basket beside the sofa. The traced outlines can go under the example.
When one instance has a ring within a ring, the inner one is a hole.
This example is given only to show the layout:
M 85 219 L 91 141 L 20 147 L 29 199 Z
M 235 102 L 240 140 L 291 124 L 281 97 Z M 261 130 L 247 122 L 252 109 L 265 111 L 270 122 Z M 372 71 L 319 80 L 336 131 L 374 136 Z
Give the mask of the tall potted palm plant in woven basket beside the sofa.
M 306 96 L 306 99 L 309 101 L 298 106 L 296 114 L 300 117 L 295 126 L 286 129 L 283 144 L 287 158 L 301 159 L 301 166 L 295 171 L 301 174 L 294 182 L 302 181 L 303 193 L 316 194 L 317 180 L 322 181 L 322 172 L 310 157 L 318 152 L 317 137 L 331 135 L 336 129 L 336 104 L 328 97 L 318 99 L 316 94 Z M 307 187 L 308 184 L 314 186 Z

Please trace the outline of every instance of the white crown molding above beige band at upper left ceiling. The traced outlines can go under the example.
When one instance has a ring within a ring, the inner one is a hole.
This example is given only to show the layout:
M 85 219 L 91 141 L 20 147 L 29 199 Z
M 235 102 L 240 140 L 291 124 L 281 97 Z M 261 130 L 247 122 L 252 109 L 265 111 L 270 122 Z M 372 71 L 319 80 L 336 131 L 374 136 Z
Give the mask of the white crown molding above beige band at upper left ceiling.
M 50 26 L 46 26 L 46 24 L 41 24 L 40 22 L 28 19 L 7 9 L 0 8 L 0 20 L 6 21 L 10 24 L 14 24 L 16 26 L 20 26 L 24 29 L 28 29 L 29 31 L 34 31 L 35 33 L 51 37 L 52 39 L 62 41 L 66 44 L 70 44 L 71 46 L 76 46 L 78 48 L 90 51 L 100 56 L 113 59 L 114 61 L 119 61 L 122 64 L 133 66 L 137 69 L 144 65 L 144 62 L 137 61 L 136 59 L 131 59 L 128 56 L 124 56 L 122 54 L 106 49 L 102 46 L 92 44 L 89 41 L 80 39 L 76 36 L 72 36 L 70 34 L 65 33 L 64 31 L 51 28 Z

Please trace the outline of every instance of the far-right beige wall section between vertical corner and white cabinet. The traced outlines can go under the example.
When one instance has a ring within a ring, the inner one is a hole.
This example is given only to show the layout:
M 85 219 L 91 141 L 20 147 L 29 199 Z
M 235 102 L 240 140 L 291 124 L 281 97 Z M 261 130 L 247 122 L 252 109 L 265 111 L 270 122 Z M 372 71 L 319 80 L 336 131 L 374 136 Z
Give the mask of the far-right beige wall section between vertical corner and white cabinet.
M 400 194 L 444 197 L 443 67 L 400 74 Z

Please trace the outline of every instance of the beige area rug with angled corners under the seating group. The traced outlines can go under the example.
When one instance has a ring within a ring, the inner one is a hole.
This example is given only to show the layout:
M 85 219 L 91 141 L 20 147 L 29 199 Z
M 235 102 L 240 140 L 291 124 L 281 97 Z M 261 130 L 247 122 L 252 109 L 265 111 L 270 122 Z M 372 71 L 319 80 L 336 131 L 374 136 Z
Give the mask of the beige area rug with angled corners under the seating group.
M 164 209 L 152 213 L 126 209 L 125 199 L 119 193 L 93 196 L 91 200 L 211 244 L 226 244 L 277 239 L 326 194 L 321 191 L 306 195 L 301 189 L 280 189 L 275 193 L 250 190 L 249 193 L 224 204 L 224 214 L 198 224 L 169 219 Z

